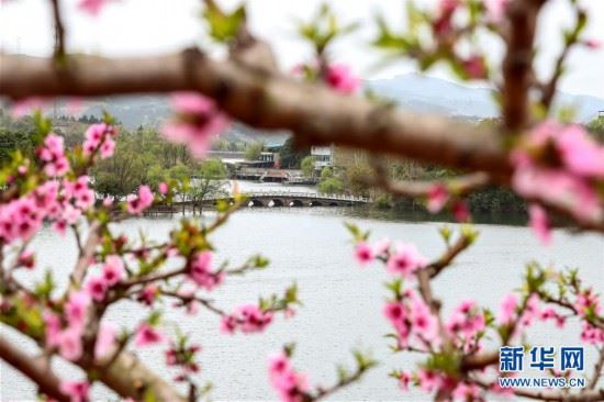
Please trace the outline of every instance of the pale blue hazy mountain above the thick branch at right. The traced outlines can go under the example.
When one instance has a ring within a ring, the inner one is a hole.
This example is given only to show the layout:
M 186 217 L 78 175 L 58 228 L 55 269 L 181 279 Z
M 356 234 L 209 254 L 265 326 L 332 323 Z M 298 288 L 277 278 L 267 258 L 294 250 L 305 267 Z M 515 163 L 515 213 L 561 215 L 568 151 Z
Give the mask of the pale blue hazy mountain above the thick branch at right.
M 486 88 L 458 85 L 418 74 L 371 80 L 366 82 L 366 87 L 412 111 L 445 113 L 471 120 L 497 115 L 496 102 L 492 91 Z M 561 107 L 573 108 L 577 122 L 584 123 L 604 110 L 604 99 L 558 92 L 555 108 Z

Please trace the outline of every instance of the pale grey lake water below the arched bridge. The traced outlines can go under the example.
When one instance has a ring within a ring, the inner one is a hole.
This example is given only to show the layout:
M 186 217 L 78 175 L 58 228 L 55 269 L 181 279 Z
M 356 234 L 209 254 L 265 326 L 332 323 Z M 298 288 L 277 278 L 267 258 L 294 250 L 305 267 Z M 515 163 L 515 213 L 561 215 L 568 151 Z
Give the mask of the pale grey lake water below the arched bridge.
M 441 223 L 412 222 L 404 216 L 393 220 L 363 217 L 350 209 L 251 209 L 237 212 L 228 224 L 216 233 L 213 243 L 217 259 L 234 265 L 257 252 L 270 258 L 270 268 L 251 272 L 243 278 L 230 278 L 212 293 L 220 306 L 227 310 L 244 302 L 256 301 L 259 294 L 281 292 L 295 281 L 304 303 L 290 320 L 279 316 L 264 334 L 225 336 L 219 332 L 219 319 L 203 311 L 197 316 L 171 313 L 170 322 L 179 322 L 192 338 L 202 345 L 201 378 L 214 383 L 214 400 L 273 400 L 266 375 L 266 355 L 279 350 L 281 345 L 297 343 L 294 364 L 307 372 L 313 384 L 335 381 L 335 365 L 353 366 L 349 350 L 359 347 L 370 350 L 380 366 L 359 383 L 334 395 L 334 400 L 390 400 L 422 401 L 427 395 L 401 393 L 396 383 L 387 377 L 394 368 L 411 369 L 414 357 L 392 355 L 383 335 L 390 331 L 382 317 L 381 308 L 388 294 L 383 288 L 387 275 L 381 266 L 359 268 L 351 256 L 349 235 L 343 222 L 351 221 L 369 228 L 372 238 L 388 236 L 412 241 L 428 257 L 443 250 L 437 228 Z M 205 219 L 212 216 L 206 212 Z M 142 227 L 153 238 L 165 238 L 179 216 L 172 219 L 131 220 L 116 230 L 135 235 Z M 455 225 L 454 225 L 455 226 Z M 522 281 L 524 264 L 538 260 L 555 263 L 557 268 L 578 267 L 588 283 L 604 290 L 604 241 L 595 235 L 572 235 L 556 232 L 553 245 L 540 247 L 525 227 L 479 224 L 480 237 L 476 246 L 463 254 L 457 264 L 434 282 L 435 292 L 444 300 L 448 312 L 461 299 L 473 298 L 481 304 L 495 308 L 503 294 L 517 288 Z M 34 243 L 38 252 L 38 267 L 54 267 L 61 279 L 74 265 L 76 247 L 71 239 L 61 239 L 44 230 Z M 35 272 L 42 273 L 42 269 Z M 65 283 L 63 283 L 65 284 Z M 112 320 L 133 325 L 144 316 L 145 310 L 134 303 L 122 303 L 109 312 Z M 2 336 L 14 338 L 9 330 Z M 570 325 L 563 332 L 550 325 L 533 330 L 536 344 L 577 345 L 579 330 Z M 27 342 L 21 340 L 24 348 Z M 32 350 L 34 350 L 32 348 Z M 163 366 L 161 348 L 143 354 L 150 366 L 166 377 L 171 372 Z M 586 351 L 591 367 L 594 351 Z M 67 365 L 57 366 L 61 376 L 77 370 Z M 19 373 L 1 366 L 2 401 L 33 399 L 33 388 Z M 107 399 L 107 391 L 94 386 L 93 395 Z

